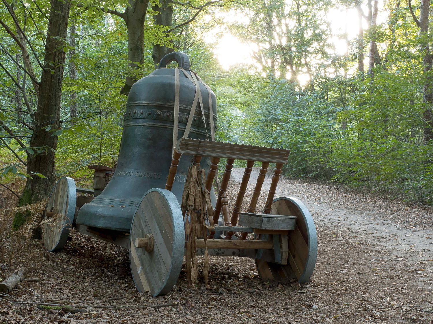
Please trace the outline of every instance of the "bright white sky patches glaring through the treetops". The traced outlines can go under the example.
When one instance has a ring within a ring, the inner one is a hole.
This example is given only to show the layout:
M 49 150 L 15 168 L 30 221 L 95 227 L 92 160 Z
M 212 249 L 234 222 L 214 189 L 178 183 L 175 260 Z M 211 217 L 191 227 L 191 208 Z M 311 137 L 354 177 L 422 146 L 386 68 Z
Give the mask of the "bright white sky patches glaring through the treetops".
M 378 3 L 378 24 L 385 22 L 388 16 L 388 12 L 384 9 L 383 0 L 379 0 Z M 367 12 L 365 8 L 365 13 Z M 220 13 L 219 18 L 223 18 L 223 21 L 227 24 L 233 22 L 241 22 L 247 24 L 249 18 L 243 16 L 239 12 Z M 210 16 L 205 16 L 205 20 L 211 19 Z M 335 47 L 335 54 L 343 55 L 347 52 L 347 43 L 343 38 L 339 38 L 339 34 L 343 34 L 347 31 L 349 41 L 356 38 L 358 34 L 358 12 L 355 8 L 351 9 L 332 9 L 326 13 L 326 20 L 330 22 L 330 27 L 333 33 L 333 37 L 330 38 L 330 42 Z M 364 22 L 364 29 L 368 28 L 368 24 Z M 222 37 L 218 36 L 218 33 L 222 32 Z M 231 35 L 224 26 L 218 27 L 210 31 L 206 36 L 205 41 L 208 43 L 216 43 L 216 47 L 213 52 L 218 58 L 220 65 L 223 69 L 228 70 L 231 66 L 236 64 L 242 64 L 251 61 L 251 55 L 254 51 L 257 51 L 256 44 L 246 44 L 235 36 Z M 368 58 L 366 57 L 366 60 Z M 300 75 L 299 82 L 301 85 L 306 84 L 309 78 L 307 75 Z

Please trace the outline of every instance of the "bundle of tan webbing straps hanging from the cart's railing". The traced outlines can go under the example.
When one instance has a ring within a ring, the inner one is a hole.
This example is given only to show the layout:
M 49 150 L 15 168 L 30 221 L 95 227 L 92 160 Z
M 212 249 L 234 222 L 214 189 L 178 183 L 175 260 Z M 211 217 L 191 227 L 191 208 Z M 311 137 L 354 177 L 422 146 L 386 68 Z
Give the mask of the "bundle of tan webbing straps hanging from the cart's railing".
M 197 283 L 197 238 L 204 238 L 205 254 L 203 276 L 207 286 L 209 274 L 209 254 L 207 252 L 207 231 L 215 228 L 213 207 L 210 194 L 206 189 L 206 177 L 203 169 L 195 163 L 188 168 L 188 175 L 182 194 L 181 209 L 184 215 L 186 237 L 186 265 L 188 285 Z

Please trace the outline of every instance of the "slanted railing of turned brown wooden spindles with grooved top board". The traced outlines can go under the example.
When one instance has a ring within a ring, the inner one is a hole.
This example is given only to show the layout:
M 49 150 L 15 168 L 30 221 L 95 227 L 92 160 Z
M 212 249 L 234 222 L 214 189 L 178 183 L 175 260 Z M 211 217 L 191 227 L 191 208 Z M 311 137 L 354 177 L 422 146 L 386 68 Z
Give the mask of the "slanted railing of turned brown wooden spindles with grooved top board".
M 257 177 L 257 181 L 255 184 L 255 188 L 253 191 L 252 199 L 249 204 L 248 212 L 255 213 L 257 202 L 259 200 L 260 193 L 262 191 L 263 181 L 265 180 L 265 175 L 267 169 L 269 167 L 269 163 L 275 163 L 274 176 L 272 177 L 271 186 L 269 188 L 268 197 L 265 204 L 264 213 L 270 213 L 271 211 L 271 203 L 274 199 L 275 190 L 278 184 L 278 180 L 281 174 L 281 168 L 284 163 L 287 163 L 288 156 L 290 151 L 287 149 L 276 149 L 262 146 L 251 146 L 251 145 L 242 145 L 242 144 L 234 144 L 234 143 L 224 143 L 224 142 L 216 142 L 216 141 L 208 141 L 208 140 L 198 140 L 191 138 L 181 138 L 178 140 L 176 147 L 173 152 L 173 160 L 171 161 L 171 167 L 169 170 L 167 183 L 165 184 L 165 189 L 171 190 L 174 181 L 174 175 L 176 174 L 176 170 L 178 167 L 179 159 L 182 154 L 188 154 L 194 156 L 194 160 L 196 163 L 200 162 L 202 156 L 207 156 L 211 158 L 210 169 L 207 174 L 206 179 L 206 189 L 208 191 L 212 188 L 213 179 L 216 175 L 216 170 L 218 168 L 218 163 L 221 158 L 226 158 L 227 163 L 223 173 L 222 181 L 220 184 L 220 188 L 218 191 L 218 197 L 216 200 L 216 206 L 213 213 L 213 221 L 215 224 L 218 224 L 218 220 L 220 218 L 220 214 L 223 214 L 223 223 L 224 231 L 226 231 L 226 240 L 230 240 L 233 235 L 238 236 L 241 239 L 246 239 L 247 235 L 251 230 L 242 232 L 238 234 L 235 231 L 227 231 L 230 227 L 236 226 L 239 218 L 239 213 L 241 210 L 242 202 L 245 197 L 246 187 L 248 185 L 252 167 L 254 162 L 262 162 L 262 167 L 260 168 L 259 175 Z M 233 168 L 233 163 L 235 159 L 246 160 L 246 168 L 244 175 L 242 177 L 242 182 L 239 187 L 239 192 L 236 197 L 236 202 L 233 207 L 233 211 L 230 211 L 228 206 L 228 199 L 226 195 L 227 186 L 230 179 L 230 174 Z M 218 226 L 216 226 L 216 229 Z M 236 230 L 239 230 L 239 227 L 236 227 Z M 256 231 L 255 231 L 256 232 Z M 266 232 L 266 230 L 262 230 L 262 232 Z M 281 232 L 281 231 L 280 231 Z M 215 231 L 211 231 L 208 238 L 213 239 L 215 235 Z M 267 243 L 268 244 L 268 243 Z M 225 245 L 219 245 L 225 246 Z M 239 245 L 239 247 L 244 248 L 249 246 L 248 243 L 245 245 Z M 209 247 L 209 245 L 208 245 Z

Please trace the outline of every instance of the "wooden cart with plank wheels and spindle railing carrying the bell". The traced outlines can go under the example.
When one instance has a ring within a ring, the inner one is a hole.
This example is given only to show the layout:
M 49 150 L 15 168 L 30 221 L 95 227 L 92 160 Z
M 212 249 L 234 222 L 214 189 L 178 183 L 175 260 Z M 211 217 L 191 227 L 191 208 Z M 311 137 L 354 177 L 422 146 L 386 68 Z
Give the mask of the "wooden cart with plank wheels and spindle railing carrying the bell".
M 313 219 L 304 204 L 296 198 L 275 198 L 281 168 L 288 161 L 289 151 L 285 149 L 181 138 L 174 148 L 165 188 L 152 188 L 144 194 L 129 233 L 88 228 L 78 230 L 129 248 L 137 289 L 140 292 L 149 291 L 155 296 L 166 294 L 178 280 L 186 250 L 185 213 L 170 191 L 182 154 L 194 156 L 195 165 L 200 164 L 201 157 L 210 157 L 210 169 L 204 184 L 207 191 L 212 190 L 220 159 L 227 159 L 213 210 L 216 225 L 214 230 L 207 232 L 206 240 L 204 237 L 197 238 L 194 244 L 197 255 L 207 252 L 209 255 L 250 257 L 255 259 L 259 275 L 264 279 L 295 278 L 299 283 L 310 280 L 317 257 Z M 246 168 L 237 197 L 227 197 L 235 159 L 246 160 Z M 262 165 L 249 206 L 242 211 L 255 162 L 262 162 Z M 275 163 L 275 170 L 265 208 L 257 211 L 270 163 Z M 69 228 L 74 224 L 76 208 L 79 208 L 78 205 L 76 207 L 78 200 L 75 191 L 74 181 L 66 177 L 61 178 L 53 190 L 43 226 L 44 241 L 49 251 L 58 251 L 65 245 Z M 232 210 L 229 210 L 229 201 L 234 202 Z

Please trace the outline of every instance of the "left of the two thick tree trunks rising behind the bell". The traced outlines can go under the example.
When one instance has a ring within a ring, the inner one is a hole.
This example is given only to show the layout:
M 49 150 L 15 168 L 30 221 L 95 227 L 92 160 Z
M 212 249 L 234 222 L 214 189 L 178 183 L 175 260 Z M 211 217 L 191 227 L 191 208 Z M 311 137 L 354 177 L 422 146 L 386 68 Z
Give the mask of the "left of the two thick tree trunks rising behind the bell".
M 144 64 L 144 21 L 148 5 L 149 0 L 128 0 L 123 16 L 128 30 L 128 67 L 134 71 L 125 78 L 125 85 L 120 90 L 123 95 L 129 94 L 132 85 L 139 79 L 139 70 Z

